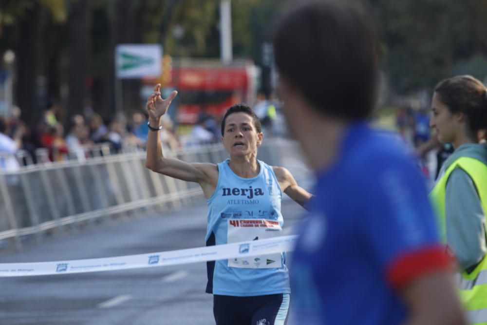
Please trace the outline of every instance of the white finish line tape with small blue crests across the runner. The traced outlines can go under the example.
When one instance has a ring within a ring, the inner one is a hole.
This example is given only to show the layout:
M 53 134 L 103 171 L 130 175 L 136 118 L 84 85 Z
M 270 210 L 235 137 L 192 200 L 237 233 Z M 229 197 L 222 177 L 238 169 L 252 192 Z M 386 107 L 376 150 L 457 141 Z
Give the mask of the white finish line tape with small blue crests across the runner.
M 101 272 L 225 260 L 291 251 L 296 240 L 297 236 L 293 235 L 150 254 L 56 262 L 0 263 L 0 277 Z

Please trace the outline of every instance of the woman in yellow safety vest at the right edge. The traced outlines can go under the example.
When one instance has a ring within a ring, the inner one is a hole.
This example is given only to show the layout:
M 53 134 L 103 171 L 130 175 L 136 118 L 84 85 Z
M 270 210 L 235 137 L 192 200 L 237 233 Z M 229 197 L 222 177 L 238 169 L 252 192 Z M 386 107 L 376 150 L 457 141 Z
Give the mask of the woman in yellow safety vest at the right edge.
M 457 285 L 469 324 L 487 325 L 487 90 L 471 76 L 441 81 L 434 90 L 430 125 L 455 151 L 431 191 L 442 240 L 461 273 Z

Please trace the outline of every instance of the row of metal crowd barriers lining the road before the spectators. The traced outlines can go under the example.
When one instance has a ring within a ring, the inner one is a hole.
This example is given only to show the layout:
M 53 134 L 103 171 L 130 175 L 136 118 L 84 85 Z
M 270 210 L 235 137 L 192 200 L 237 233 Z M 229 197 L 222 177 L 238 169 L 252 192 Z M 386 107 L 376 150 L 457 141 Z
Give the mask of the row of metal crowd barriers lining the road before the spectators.
M 165 155 L 213 163 L 228 157 L 221 144 Z M 269 165 L 287 165 L 292 172 L 303 166 L 297 145 L 288 140 L 264 141 L 258 157 Z M 0 170 L 0 240 L 13 238 L 20 246 L 20 236 L 131 210 L 177 209 L 203 193 L 197 183 L 151 172 L 145 162 L 146 153 L 134 151 Z

